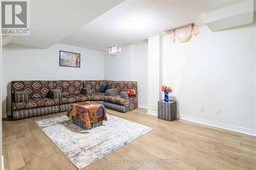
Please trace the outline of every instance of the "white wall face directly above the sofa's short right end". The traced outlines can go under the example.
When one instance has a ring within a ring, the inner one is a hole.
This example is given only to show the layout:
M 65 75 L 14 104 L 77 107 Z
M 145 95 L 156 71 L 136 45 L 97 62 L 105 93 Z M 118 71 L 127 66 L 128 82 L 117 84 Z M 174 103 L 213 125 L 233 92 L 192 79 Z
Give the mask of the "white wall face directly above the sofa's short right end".
M 121 47 L 121 52 L 115 57 L 108 52 L 104 53 L 104 79 L 105 80 L 135 80 L 134 77 L 134 45 Z

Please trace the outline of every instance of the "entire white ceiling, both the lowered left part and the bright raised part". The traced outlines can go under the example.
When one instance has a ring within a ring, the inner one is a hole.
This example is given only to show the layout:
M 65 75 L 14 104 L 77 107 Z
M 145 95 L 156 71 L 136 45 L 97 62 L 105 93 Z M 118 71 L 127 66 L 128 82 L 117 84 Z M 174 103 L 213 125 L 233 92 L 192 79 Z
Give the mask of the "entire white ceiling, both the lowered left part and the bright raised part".
M 104 51 L 113 45 L 142 43 L 141 39 L 187 23 L 204 26 L 206 12 L 242 1 L 31 0 L 30 36 L 13 36 L 8 41 L 41 48 L 60 42 Z M 135 29 L 134 22 L 143 25 Z

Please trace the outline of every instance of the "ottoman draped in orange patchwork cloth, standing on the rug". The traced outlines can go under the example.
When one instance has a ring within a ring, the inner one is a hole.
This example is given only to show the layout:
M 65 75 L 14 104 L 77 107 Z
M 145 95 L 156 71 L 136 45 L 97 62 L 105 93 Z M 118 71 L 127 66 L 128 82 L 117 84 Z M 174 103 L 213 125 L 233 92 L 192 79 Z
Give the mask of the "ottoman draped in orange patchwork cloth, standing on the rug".
M 95 102 L 80 102 L 71 105 L 67 116 L 73 123 L 84 130 L 103 125 L 106 118 L 106 109 L 102 104 Z

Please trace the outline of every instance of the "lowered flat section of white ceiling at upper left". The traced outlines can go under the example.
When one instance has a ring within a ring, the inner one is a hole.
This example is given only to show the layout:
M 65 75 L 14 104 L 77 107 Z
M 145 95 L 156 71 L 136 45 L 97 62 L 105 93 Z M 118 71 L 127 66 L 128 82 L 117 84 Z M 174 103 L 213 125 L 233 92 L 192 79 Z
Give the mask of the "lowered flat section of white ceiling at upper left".
M 31 0 L 30 35 L 14 36 L 11 43 L 48 48 L 122 1 Z

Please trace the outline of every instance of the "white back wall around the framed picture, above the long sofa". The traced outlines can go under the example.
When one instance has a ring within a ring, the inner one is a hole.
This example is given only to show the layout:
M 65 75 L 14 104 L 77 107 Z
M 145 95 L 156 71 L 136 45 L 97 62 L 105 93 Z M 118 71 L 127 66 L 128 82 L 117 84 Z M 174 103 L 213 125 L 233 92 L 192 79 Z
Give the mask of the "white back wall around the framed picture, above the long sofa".
M 59 51 L 81 54 L 80 68 L 59 66 Z M 103 52 L 66 44 L 47 49 L 7 44 L 3 47 L 3 113 L 11 111 L 11 81 L 102 80 Z

